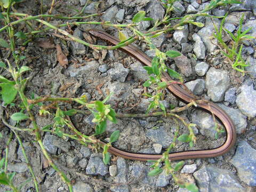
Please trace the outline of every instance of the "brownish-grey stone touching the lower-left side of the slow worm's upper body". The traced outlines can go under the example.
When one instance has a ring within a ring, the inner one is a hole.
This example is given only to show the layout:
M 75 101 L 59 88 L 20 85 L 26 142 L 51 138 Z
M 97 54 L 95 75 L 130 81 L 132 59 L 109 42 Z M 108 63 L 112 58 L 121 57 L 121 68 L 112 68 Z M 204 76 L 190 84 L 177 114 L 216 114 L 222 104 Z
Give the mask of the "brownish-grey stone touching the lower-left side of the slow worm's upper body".
M 139 61 L 132 63 L 130 68 L 135 80 L 142 79 L 143 81 L 147 81 L 149 79 L 146 69 L 143 68 Z

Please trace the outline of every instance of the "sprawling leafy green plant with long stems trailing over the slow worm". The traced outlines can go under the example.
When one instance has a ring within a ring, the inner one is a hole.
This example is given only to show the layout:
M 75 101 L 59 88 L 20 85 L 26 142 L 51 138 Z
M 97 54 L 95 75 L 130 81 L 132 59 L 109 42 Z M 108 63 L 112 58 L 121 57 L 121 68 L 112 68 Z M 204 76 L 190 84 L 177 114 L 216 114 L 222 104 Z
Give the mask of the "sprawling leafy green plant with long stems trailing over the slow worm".
M 99 145 L 103 149 L 103 162 L 105 164 L 108 164 L 110 161 L 110 156 L 108 154 L 108 148 L 111 146 L 111 143 L 115 142 L 119 137 L 119 131 L 115 131 L 111 134 L 110 140 L 106 145 L 102 145 L 102 142 L 100 142 L 97 139 L 97 135 L 100 135 L 106 131 L 107 126 L 107 119 L 111 122 L 116 123 L 118 118 L 122 117 L 150 117 L 150 116 L 171 116 L 174 117 L 174 119 L 179 119 L 183 125 L 185 125 L 188 128 L 188 134 L 182 134 L 179 135 L 179 127 L 177 124 L 177 129 L 175 130 L 174 139 L 169 148 L 165 151 L 162 158 L 158 159 L 158 161 L 154 162 L 154 164 L 151 166 L 153 168 L 153 171 L 149 173 L 149 175 L 156 175 L 161 173 L 165 170 L 166 174 L 172 174 L 174 181 L 180 186 L 185 187 L 190 191 L 198 191 L 198 188 L 194 184 L 189 184 L 186 182 L 181 181 L 176 176 L 176 172 L 178 172 L 181 167 L 183 166 L 183 161 L 177 163 L 174 167 L 171 165 L 171 162 L 167 158 L 167 154 L 169 154 L 170 150 L 175 147 L 175 142 L 177 139 L 182 142 L 189 142 L 190 147 L 193 146 L 193 143 L 196 141 L 196 137 L 194 135 L 192 127 L 194 124 L 186 123 L 185 120 L 177 115 L 176 113 L 188 109 L 190 106 L 196 105 L 196 102 L 191 102 L 185 107 L 181 108 L 175 108 L 172 110 L 167 111 L 164 107 L 164 105 L 161 102 L 161 99 L 163 97 L 163 90 L 171 83 L 179 83 L 182 84 L 183 79 L 182 76 L 177 73 L 176 71 L 167 68 L 165 65 L 165 61 L 170 58 L 174 58 L 180 55 L 177 51 L 166 51 L 162 52 L 157 49 L 157 47 L 151 42 L 152 38 L 156 38 L 157 36 L 167 33 L 168 31 L 172 30 L 182 30 L 183 25 L 187 23 L 191 23 L 196 26 L 203 27 L 203 23 L 195 22 L 194 19 L 199 16 L 205 16 L 210 17 L 206 11 L 209 11 L 217 6 L 223 5 L 223 4 L 230 4 L 230 3 L 237 3 L 235 0 L 212 0 L 210 5 L 206 7 L 205 10 L 202 12 L 196 13 L 196 14 L 188 14 L 185 15 L 183 18 L 171 18 L 171 12 L 173 11 L 173 3 L 176 0 L 168 0 L 168 1 L 162 1 L 164 7 L 166 8 L 166 13 L 164 16 L 164 19 L 162 21 L 155 21 L 155 25 L 147 31 L 147 33 L 141 33 L 136 26 L 140 21 L 149 21 L 152 20 L 151 18 L 146 18 L 146 13 L 144 11 L 140 11 L 137 14 L 134 15 L 132 19 L 132 23 L 130 24 L 122 24 L 122 25 L 116 25 L 111 22 L 95 22 L 95 21 L 72 21 L 69 23 L 63 23 L 58 26 L 54 26 L 50 23 L 50 18 L 54 19 L 63 19 L 63 20 L 76 20 L 76 19 L 87 19 L 91 17 L 95 17 L 98 15 L 101 15 L 100 13 L 95 13 L 91 15 L 83 15 L 83 10 L 85 9 L 86 5 L 83 7 L 81 11 L 78 11 L 77 15 L 74 15 L 73 17 L 63 17 L 61 15 L 53 15 L 51 14 L 52 10 L 54 9 L 54 0 L 51 3 L 51 8 L 48 11 L 48 14 L 42 14 L 43 13 L 43 1 L 41 1 L 41 14 L 39 15 L 28 15 L 25 13 L 16 13 L 16 12 L 10 12 L 11 6 L 13 6 L 15 3 L 22 3 L 22 1 L 19 0 L 1 0 L 0 6 L 2 8 L 2 13 L 0 14 L 0 19 L 4 22 L 4 27 L 0 29 L 0 32 L 6 31 L 6 34 L 8 36 L 8 39 L 0 39 L 0 45 L 4 47 L 6 50 L 10 50 L 13 56 L 13 61 L 5 60 L 0 62 L 0 67 L 2 67 L 4 70 L 6 70 L 8 73 L 11 74 L 10 78 L 6 78 L 3 76 L 0 76 L 0 86 L 1 86 L 1 96 L 2 100 L 4 101 L 6 106 L 10 106 L 12 103 L 17 103 L 17 113 L 14 113 L 11 115 L 11 118 L 14 121 L 17 121 L 19 123 L 20 121 L 29 119 L 32 124 L 33 128 L 20 128 L 18 126 L 12 126 L 8 124 L 5 121 L 4 114 L 1 114 L 1 119 L 3 123 L 10 127 L 11 129 L 11 137 L 9 139 L 9 142 L 6 144 L 6 156 L 5 159 L 1 159 L 1 164 L 3 166 L 3 162 L 5 164 L 4 171 L 1 170 L 1 178 L 0 181 L 3 180 L 3 184 L 6 184 L 12 188 L 13 191 L 20 191 L 20 188 L 15 188 L 12 184 L 12 179 L 14 177 L 14 173 L 7 173 L 6 167 L 7 167 L 7 155 L 8 155 L 8 146 L 10 143 L 10 140 L 12 138 L 12 134 L 14 133 L 15 137 L 19 141 L 19 145 L 22 148 L 22 153 L 26 158 L 26 163 L 28 165 L 28 158 L 26 157 L 26 151 L 22 147 L 22 142 L 19 138 L 19 135 L 16 131 L 26 131 L 30 133 L 35 134 L 35 140 L 38 143 L 38 145 L 41 147 L 42 153 L 49 162 L 49 164 L 53 167 L 54 170 L 57 171 L 60 178 L 63 182 L 65 182 L 68 187 L 69 191 L 73 191 L 72 185 L 70 180 L 67 178 L 66 174 L 62 172 L 57 165 L 54 164 L 52 161 L 51 156 L 47 153 L 45 147 L 42 143 L 41 138 L 41 132 L 50 132 L 52 134 L 56 134 L 59 137 L 65 139 L 67 137 L 77 140 L 82 145 L 87 145 L 87 143 Z M 83 16 L 81 16 L 83 15 Z M 47 18 L 47 21 L 45 20 Z M 176 25 L 172 26 L 170 21 L 171 20 L 179 20 Z M 33 26 L 31 23 L 29 23 L 30 20 L 37 21 L 41 26 Z M 23 33 L 22 31 L 17 31 L 15 28 L 16 25 L 18 25 L 21 22 L 25 22 L 28 26 L 30 31 L 27 33 Z M 42 25 L 46 26 L 45 28 L 42 28 Z M 61 27 L 65 26 L 79 26 L 79 25 L 102 25 L 107 27 L 114 27 L 119 30 L 119 37 L 121 42 L 118 45 L 115 46 L 103 46 L 103 45 L 93 45 L 90 43 L 87 43 L 85 41 L 82 41 L 81 39 L 69 34 L 66 30 L 61 29 Z M 162 26 L 162 27 L 161 27 Z M 158 27 L 161 27 L 158 29 Z M 37 30 L 34 30 L 34 29 Z M 130 29 L 133 32 L 133 35 L 126 39 L 126 37 L 121 33 L 122 29 Z M 27 66 L 22 66 L 22 60 L 26 59 L 25 55 L 22 55 L 21 52 L 17 49 L 17 45 L 15 44 L 18 39 L 19 41 L 22 41 L 22 45 L 26 46 L 28 42 L 32 41 L 32 39 L 37 36 L 40 33 L 44 33 L 47 30 L 54 29 L 58 33 L 67 36 L 71 41 L 75 41 L 81 44 L 84 44 L 86 46 L 91 47 L 95 50 L 114 50 L 119 47 L 128 45 L 133 43 L 134 41 L 137 41 L 138 39 L 140 41 L 144 41 L 147 43 L 148 47 L 151 50 L 154 50 L 156 53 L 156 57 L 154 57 L 153 61 L 151 62 L 151 67 L 145 67 L 147 70 L 147 73 L 152 75 L 150 76 L 150 79 L 148 79 L 143 85 L 145 87 L 154 87 L 155 94 L 149 94 L 145 93 L 145 96 L 152 98 L 153 101 L 150 103 L 147 113 L 146 114 L 116 114 L 114 109 L 111 108 L 110 105 L 106 105 L 106 101 L 109 99 L 110 95 L 103 101 L 94 101 L 94 102 L 87 102 L 86 97 L 81 98 L 51 98 L 51 97 L 42 97 L 42 98 L 34 98 L 34 95 L 28 95 L 26 93 L 26 86 L 27 82 L 29 81 L 28 78 L 24 78 L 23 75 L 26 73 L 28 74 L 31 70 Z M 7 64 L 7 65 L 6 65 Z M 179 82 L 171 81 L 171 82 L 161 82 L 162 74 L 168 73 L 171 77 L 177 79 Z M 10 80 L 11 79 L 11 80 Z M 50 102 L 50 104 L 49 104 Z M 87 109 L 87 111 L 84 110 L 77 110 L 77 109 L 70 109 L 65 110 L 62 107 L 60 107 L 60 102 L 75 102 L 78 105 L 81 105 Z M 34 111 L 35 106 L 39 107 L 39 111 Z M 54 108 L 55 110 L 52 110 Z M 160 108 L 162 111 L 152 111 Z M 1 108 L 2 109 L 2 108 Z M 3 112 L 3 111 L 2 111 Z M 39 115 L 51 115 L 54 118 L 54 123 L 47 125 L 45 127 L 38 127 L 36 121 L 35 121 L 35 115 L 34 113 L 39 113 Z M 93 114 L 94 119 L 93 122 L 95 123 L 95 133 L 92 135 L 85 135 L 82 132 L 79 132 L 76 127 L 71 123 L 69 116 L 75 115 L 76 113 L 82 113 L 82 114 Z M 176 120 L 174 120 L 176 121 Z M 71 132 L 73 134 L 68 134 L 64 131 L 63 127 L 69 127 Z M 0 135 L 1 136 L 1 135 Z M 165 165 L 163 168 L 159 168 L 159 164 L 164 162 Z M 0 167 L 2 167 L 0 166 Z M 37 180 L 35 178 L 33 169 L 31 166 L 29 166 L 29 171 L 33 177 L 34 185 L 36 188 L 36 191 L 38 191 L 38 184 Z

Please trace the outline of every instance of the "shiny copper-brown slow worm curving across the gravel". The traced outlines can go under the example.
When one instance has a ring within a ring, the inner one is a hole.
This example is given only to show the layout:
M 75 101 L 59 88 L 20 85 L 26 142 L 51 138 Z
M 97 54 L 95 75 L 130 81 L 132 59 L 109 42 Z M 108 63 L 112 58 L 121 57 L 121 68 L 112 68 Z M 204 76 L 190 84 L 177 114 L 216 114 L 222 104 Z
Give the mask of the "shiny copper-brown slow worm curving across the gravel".
M 89 30 L 89 33 L 95 37 L 101 38 L 104 41 L 110 42 L 111 44 L 118 44 L 120 41 L 109 35 L 108 33 L 100 30 Z M 145 53 L 141 52 L 137 47 L 133 45 L 127 45 L 119 48 L 120 50 L 130 54 L 133 58 L 139 60 L 142 64 L 151 66 L 151 58 L 148 57 Z M 167 73 L 163 73 L 162 81 L 169 82 L 172 81 L 171 77 Z M 182 100 L 183 102 L 189 103 L 195 101 L 195 95 L 187 92 L 182 89 L 178 84 L 171 84 L 168 86 L 168 89 L 171 93 Z M 192 158 L 206 158 L 206 157 L 216 157 L 222 154 L 227 153 L 230 148 L 234 145 L 236 141 L 236 130 L 233 121 L 227 115 L 225 111 L 223 111 L 219 106 L 215 105 L 212 102 L 205 103 L 197 103 L 199 108 L 202 108 L 206 111 L 213 113 L 216 117 L 219 118 L 220 122 L 226 129 L 226 141 L 218 148 L 215 149 L 203 149 L 203 150 L 190 150 L 190 151 L 180 151 L 169 154 L 169 159 L 171 161 L 179 160 L 179 159 L 192 159 Z M 102 142 L 103 143 L 103 142 Z M 130 153 L 127 151 L 119 150 L 115 147 L 109 148 L 109 153 L 114 154 L 116 156 L 120 156 L 127 159 L 137 160 L 137 161 L 147 161 L 147 160 L 157 160 L 162 157 L 162 155 L 153 155 L 153 154 L 138 154 L 138 153 Z

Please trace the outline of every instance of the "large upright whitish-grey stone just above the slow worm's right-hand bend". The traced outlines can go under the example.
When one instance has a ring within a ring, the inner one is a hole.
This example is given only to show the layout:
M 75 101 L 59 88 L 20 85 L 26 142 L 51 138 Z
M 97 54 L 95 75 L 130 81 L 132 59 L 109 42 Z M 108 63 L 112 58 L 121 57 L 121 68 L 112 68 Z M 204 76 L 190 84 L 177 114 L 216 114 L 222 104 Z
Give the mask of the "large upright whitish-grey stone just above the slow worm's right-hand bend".
M 212 101 L 223 101 L 229 84 L 230 82 L 226 70 L 215 69 L 212 67 L 207 71 L 205 85 L 207 88 L 207 94 Z

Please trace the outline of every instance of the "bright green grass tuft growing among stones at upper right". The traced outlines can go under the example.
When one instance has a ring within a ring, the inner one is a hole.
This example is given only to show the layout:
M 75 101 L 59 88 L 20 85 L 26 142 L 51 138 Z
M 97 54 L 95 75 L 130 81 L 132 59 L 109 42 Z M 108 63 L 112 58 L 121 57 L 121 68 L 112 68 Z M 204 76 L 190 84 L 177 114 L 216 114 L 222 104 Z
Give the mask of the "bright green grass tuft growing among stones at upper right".
M 249 31 L 252 28 L 249 28 L 249 29 L 245 30 L 244 32 L 242 32 L 244 14 L 239 21 L 239 27 L 237 29 L 236 35 L 233 35 L 229 30 L 225 29 L 223 27 L 223 25 L 225 23 L 225 19 L 226 19 L 227 15 L 228 15 L 228 13 L 226 13 L 225 17 L 222 19 L 219 29 L 217 26 L 215 26 L 215 24 L 213 22 L 214 28 L 216 30 L 216 34 L 213 34 L 213 36 L 218 40 L 219 44 L 221 45 L 221 47 L 220 47 L 221 53 L 223 55 L 225 55 L 225 57 L 228 59 L 231 66 L 233 67 L 233 69 L 236 69 L 237 71 L 244 73 L 245 72 L 244 67 L 246 67 L 248 65 L 246 65 L 246 63 L 242 57 L 242 49 L 243 49 L 242 41 L 244 41 L 246 39 L 255 38 L 255 37 L 246 35 L 247 33 L 249 33 Z M 223 41 L 223 36 L 222 36 L 223 30 L 230 36 L 231 45 L 227 45 Z

